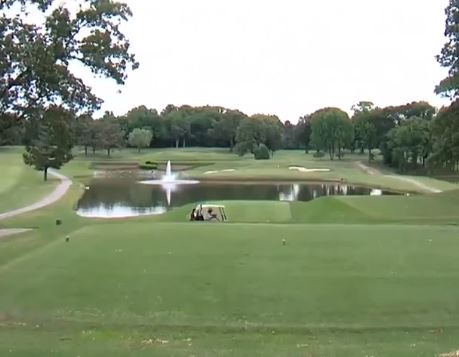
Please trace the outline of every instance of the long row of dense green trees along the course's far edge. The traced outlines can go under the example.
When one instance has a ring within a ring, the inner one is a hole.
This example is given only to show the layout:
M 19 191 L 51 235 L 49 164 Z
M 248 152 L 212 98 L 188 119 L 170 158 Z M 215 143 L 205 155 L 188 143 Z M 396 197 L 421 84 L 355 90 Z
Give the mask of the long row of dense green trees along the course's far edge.
M 227 147 L 241 156 L 257 156 L 261 150 L 263 158 L 279 149 L 313 150 L 316 156 L 327 155 L 331 160 L 342 159 L 346 152 L 367 152 L 371 161 L 379 150 L 386 164 L 405 171 L 428 163 L 444 166 L 442 160 L 452 157 L 454 140 L 444 138 L 445 131 L 451 132 L 452 121 L 445 116 L 454 117 L 456 107 L 437 113 L 427 102 L 385 108 L 360 102 L 352 107 L 351 116 L 338 108 L 323 108 L 293 124 L 275 115 L 249 116 L 219 106 L 168 105 L 161 112 L 140 106 L 121 116 L 106 112 L 97 120 L 54 106 L 43 112 L 40 126 L 9 115 L 10 125 L 0 138 L 3 144 L 30 145 L 37 138 L 46 141 L 49 129 L 60 123 L 53 129 L 55 135 L 66 138 L 68 147 L 82 146 L 85 155 L 105 150 L 110 156 L 113 149 L 125 146 L 139 151 L 200 146 Z M 61 119 L 50 119 L 57 116 Z

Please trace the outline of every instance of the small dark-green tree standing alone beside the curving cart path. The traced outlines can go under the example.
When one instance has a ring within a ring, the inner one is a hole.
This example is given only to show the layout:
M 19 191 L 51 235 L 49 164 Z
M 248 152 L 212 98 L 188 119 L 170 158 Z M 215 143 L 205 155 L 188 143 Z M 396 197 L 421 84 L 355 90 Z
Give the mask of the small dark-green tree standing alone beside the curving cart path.
M 48 169 L 59 169 L 72 159 L 73 114 L 68 110 L 52 106 L 40 118 L 38 136 L 26 146 L 24 162 L 43 171 L 48 179 Z

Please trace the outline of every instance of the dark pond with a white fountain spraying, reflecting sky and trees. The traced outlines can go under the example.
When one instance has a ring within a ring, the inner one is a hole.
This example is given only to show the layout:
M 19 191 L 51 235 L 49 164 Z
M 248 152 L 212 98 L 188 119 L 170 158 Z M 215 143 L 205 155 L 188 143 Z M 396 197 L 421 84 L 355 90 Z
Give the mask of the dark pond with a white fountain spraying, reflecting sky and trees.
M 391 195 L 394 193 L 333 183 L 200 183 L 149 186 L 134 178 L 95 179 L 78 202 L 83 217 L 120 218 L 162 214 L 173 207 L 202 201 L 311 201 L 331 195 Z

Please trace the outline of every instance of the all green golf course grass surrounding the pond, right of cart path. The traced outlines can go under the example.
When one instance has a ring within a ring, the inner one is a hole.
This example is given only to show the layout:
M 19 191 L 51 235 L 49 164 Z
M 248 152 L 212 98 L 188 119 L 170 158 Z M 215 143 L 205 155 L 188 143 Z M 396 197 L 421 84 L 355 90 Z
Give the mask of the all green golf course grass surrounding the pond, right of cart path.
M 368 175 L 359 157 L 332 163 L 300 152 L 255 162 L 224 150 L 123 150 L 110 161 L 167 159 L 207 162 L 185 172 L 199 178 L 411 186 Z M 95 161 L 104 159 L 64 167 L 76 182 L 58 203 L 0 224 L 34 228 L 0 240 L 0 356 L 432 357 L 459 349 L 457 186 L 422 178 L 452 191 L 228 201 L 228 224 L 187 223 L 192 205 L 83 219 L 73 207 Z M 205 174 L 225 169 L 236 171 Z

